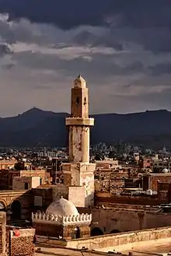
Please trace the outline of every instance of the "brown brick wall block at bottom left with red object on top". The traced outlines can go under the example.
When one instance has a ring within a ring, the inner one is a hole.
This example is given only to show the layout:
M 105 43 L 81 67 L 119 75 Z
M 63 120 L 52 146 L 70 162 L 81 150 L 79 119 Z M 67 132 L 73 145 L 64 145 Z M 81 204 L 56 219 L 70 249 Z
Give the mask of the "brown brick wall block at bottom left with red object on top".
M 16 236 L 14 226 L 7 226 L 6 234 L 6 253 L 8 256 L 33 256 L 34 244 L 33 237 L 35 234 L 34 229 L 17 229 L 19 236 Z

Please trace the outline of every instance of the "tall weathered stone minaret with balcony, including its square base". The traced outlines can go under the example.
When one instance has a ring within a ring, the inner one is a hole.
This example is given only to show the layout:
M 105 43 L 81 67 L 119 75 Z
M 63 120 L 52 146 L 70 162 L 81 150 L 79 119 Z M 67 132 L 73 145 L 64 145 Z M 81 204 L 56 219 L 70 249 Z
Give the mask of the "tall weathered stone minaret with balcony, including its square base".
M 85 188 L 82 206 L 93 206 L 96 164 L 89 163 L 89 128 L 94 125 L 94 118 L 89 118 L 89 89 L 81 75 L 72 86 L 71 116 L 66 118 L 66 125 L 69 129 L 69 163 L 62 164 L 62 172 L 68 183 L 70 177 L 70 184 L 75 189 Z M 79 197 L 76 191 L 75 196 Z

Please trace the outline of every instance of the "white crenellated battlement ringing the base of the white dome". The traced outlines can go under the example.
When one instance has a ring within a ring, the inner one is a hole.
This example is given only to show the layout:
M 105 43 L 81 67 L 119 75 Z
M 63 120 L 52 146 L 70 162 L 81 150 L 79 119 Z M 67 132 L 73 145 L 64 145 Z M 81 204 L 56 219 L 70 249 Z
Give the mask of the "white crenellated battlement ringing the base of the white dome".
M 46 214 L 44 212 L 32 212 L 33 222 L 51 222 L 54 224 L 69 225 L 74 223 L 91 223 L 92 214 L 79 214 L 78 216 L 57 216 Z

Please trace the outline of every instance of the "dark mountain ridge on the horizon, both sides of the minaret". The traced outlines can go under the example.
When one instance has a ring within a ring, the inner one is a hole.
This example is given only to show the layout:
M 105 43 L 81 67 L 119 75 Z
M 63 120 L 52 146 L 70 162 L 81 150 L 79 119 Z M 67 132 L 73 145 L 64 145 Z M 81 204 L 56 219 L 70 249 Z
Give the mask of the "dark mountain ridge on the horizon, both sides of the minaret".
M 0 146 L 66 146 L 65 117 L 36 107 L 16 117 L 0 118 Z M 123 140 L 136 145 L 171 148 L 171 112 L 150 110 L 134 114 L 95 114 L 91 143 Z

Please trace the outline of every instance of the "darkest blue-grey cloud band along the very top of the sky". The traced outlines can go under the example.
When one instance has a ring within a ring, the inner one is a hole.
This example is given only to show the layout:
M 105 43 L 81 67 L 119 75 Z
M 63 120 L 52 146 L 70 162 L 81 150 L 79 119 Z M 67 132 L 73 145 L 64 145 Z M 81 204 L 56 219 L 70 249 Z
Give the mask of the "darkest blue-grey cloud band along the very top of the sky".
M 10 19 L 54 23 L 62 29 L 91 25 L 171 26 L 169 0 L 1 0 L 0 12 Z M 116 16 L 113 19 L 113 16 Z M 108 18 L 108 19 L 107 19 Z

